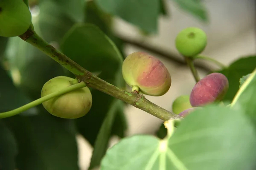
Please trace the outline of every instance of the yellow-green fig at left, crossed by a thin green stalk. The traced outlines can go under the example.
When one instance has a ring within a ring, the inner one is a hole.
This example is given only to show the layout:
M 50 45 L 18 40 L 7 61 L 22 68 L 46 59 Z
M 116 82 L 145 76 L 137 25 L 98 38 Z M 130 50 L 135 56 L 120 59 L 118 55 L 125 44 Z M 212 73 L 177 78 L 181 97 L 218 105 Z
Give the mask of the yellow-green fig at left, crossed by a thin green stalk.
M 73 78 L 59 76 L 46 82 L 41 91 L 41 97 L 60 91 L 72 85 Z M 44 108 L 54 116 L 76 119 L 86 115 L 92 106 L 92 95 L 89 88 L 80 88 L 61 96 L 43 102 Z

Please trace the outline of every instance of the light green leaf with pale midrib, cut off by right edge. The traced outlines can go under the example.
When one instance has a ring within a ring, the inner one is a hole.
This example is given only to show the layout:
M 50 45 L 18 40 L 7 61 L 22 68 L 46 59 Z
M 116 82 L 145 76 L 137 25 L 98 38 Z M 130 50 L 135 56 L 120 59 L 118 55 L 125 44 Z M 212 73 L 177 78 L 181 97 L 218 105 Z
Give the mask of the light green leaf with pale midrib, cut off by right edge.
M 247 75 L 248 76 L 248 75 Z M 231 107 L 241 109 L 256 125 L 256 69 L 243 83 L 237 92 Z

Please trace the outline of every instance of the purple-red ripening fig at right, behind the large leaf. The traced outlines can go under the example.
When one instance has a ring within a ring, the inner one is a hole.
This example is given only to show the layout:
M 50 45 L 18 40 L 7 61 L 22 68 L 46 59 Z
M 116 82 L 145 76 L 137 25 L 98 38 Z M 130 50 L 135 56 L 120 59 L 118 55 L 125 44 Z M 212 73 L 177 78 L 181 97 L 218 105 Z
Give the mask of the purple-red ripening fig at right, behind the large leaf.
M 224 74 L 209 74 L 195 84 L 189 97 L 190 104 L 198 107 L 221 101 L 227 94 L 228 87 L 228 79 Z

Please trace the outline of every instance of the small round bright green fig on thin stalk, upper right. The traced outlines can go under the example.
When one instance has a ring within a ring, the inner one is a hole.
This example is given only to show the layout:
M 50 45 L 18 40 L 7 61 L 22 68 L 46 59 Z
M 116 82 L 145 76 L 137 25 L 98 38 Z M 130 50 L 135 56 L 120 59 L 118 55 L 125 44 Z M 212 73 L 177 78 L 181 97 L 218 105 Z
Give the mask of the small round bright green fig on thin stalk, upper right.
M 200 28 L 185 28 L 177 34 L 176 48 L 185 57 L 194 57 L 204 51 L 207 45 L 207 35 Z

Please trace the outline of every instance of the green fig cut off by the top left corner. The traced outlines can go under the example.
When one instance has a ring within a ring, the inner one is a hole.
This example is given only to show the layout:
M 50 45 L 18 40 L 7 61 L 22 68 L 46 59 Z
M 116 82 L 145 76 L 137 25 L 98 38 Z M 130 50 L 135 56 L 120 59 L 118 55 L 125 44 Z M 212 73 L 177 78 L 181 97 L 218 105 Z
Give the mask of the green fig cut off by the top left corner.
M 32 16 L 23 0 L 0 0 L 0 36 L 15 37 L 27 31 Z

